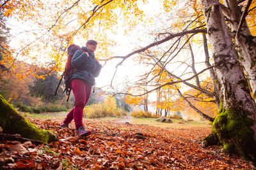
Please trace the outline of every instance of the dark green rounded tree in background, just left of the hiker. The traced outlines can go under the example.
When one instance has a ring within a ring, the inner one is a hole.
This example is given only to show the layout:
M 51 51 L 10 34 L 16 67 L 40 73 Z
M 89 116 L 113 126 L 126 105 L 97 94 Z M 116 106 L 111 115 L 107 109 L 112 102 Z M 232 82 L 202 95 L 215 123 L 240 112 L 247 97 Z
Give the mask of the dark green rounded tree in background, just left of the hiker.
M 34 85 L 30 86 L 30 94 L 35 97 L 42 97 L 45 106 L 49 106 L 50 101 L 60 99 L 59 96 L 54 96 L 58 82 L 57 74 L 48 74 L 46 70 L 42 71 L 38 74 Z

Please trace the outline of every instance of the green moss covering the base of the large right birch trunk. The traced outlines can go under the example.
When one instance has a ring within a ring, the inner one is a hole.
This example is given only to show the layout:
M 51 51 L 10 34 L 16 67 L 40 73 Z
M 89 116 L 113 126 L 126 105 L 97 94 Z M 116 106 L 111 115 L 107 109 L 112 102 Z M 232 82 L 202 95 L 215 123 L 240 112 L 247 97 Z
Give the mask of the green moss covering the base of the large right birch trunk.
M 227 152 L 237 153 L 255 162 L 256 142 L 253 139 L 253 131 L 250 129 L 253 120 L 248 118 L 248 113 L 242 112 L 243 115 L 241 115 L 241 112 L 233 108 L 220 108 L 212 124 L 212 133 L 218 135 Z

